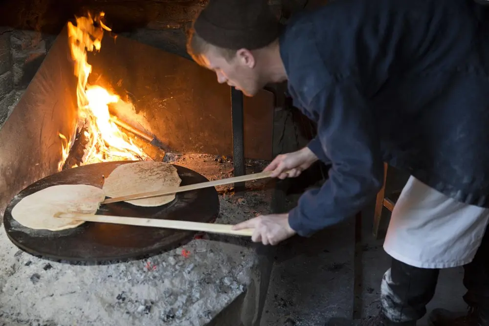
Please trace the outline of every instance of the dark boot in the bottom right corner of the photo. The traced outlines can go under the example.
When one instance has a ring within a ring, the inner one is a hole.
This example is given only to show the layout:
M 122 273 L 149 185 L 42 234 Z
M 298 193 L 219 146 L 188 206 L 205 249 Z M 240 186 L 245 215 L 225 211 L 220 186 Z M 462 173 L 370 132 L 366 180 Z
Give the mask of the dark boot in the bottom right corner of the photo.
M 428 317 L 429 326 L 489 326 L 487 315 L 477 308 L 468 313 L 456 313 L 446 309 L 434 309 Z

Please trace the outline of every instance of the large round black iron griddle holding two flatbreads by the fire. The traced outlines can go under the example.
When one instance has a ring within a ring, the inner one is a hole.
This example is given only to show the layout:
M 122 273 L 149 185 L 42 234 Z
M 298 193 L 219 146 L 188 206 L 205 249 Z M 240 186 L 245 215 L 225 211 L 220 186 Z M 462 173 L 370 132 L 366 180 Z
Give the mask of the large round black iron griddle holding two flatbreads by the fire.
M 68 169 L 49 175 L 22 190 L 5 210 L 4 227 L 9 239 L 22 250 L 47 259 L 67 261 L 108 261 L 139 258 L 174 248 L 192 238 L 194 232 L 146 226 L 85 222 L 69 230 L 34 230 L 22 226 L 12 217 L 12 208 L 25 196 L 61 184 L 88 184 L 102 188 L 104 177 L 121 164 L 133 161 L 104 162 Z M 208 181 L 190 169 L 174 165 L 181 185 Z M 96 214 L 213 221 L 219 214 L 215 188 L 178 193 L 162 206 L 141 207 L 126 202 L 101 205 Z

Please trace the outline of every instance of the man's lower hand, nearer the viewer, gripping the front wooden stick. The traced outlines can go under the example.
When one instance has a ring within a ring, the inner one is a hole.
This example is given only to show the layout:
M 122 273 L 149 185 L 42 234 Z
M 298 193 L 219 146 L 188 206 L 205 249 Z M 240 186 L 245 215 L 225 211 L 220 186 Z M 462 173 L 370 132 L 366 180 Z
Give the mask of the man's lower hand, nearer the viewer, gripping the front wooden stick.
M 233 226 L 233 230 L 254 228 L 251 240 L 275 245 L 295 235 L 289 225 L 289 214 L 264 215 L 251 218 Z

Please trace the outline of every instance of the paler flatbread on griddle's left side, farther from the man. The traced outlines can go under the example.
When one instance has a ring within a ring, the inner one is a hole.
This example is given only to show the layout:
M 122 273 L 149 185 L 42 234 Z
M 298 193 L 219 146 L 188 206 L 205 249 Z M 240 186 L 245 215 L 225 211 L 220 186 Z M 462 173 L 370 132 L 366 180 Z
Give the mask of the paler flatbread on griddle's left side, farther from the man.
M 94 214 L 105 199 L 104 191 L 89 185 L 57 185 L 21 199 L 12 217 L 30 229 L 61 231 L 85 221 L 54 217 L 56 213 Z

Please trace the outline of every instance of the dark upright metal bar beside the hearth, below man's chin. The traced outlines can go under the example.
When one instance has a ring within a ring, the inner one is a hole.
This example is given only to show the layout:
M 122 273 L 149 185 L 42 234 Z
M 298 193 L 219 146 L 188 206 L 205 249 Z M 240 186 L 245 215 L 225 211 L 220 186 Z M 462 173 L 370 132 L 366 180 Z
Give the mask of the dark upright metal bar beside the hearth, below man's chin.
M 245 174 L 243 93 L 234 87 L 231 87 L 231 119 L 233 129 L 234 176 L 241 176 Z M 234 191 L 244 191 L 244 182 L 235 183 Z

